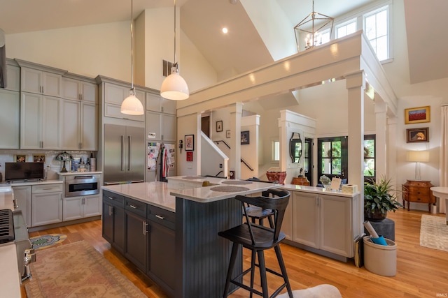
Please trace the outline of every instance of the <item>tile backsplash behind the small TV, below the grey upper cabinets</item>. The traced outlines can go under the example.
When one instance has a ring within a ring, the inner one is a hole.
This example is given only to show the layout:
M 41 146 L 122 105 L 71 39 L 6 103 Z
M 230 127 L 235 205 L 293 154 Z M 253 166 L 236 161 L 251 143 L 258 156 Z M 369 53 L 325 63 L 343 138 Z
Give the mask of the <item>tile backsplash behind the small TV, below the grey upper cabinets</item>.
M 38 151 L 38 150 L 10 150 L 10 149 L 0 149 L 0 173 L 1 173 L 1 181 L 4 181 L 5 177 L 5 163 L 15 162 L 16 159 L 25 156 L 26 162 L 32 162 L 34 159 L 36 161 L 40 161 L 41 158 L 45 158 L 45 170 L 46 170 L 46 179 L 59 179 L 58 172 L 62 170 L 62 161 L 56 161 L 57 154 L 63 152 L 63 150 L 49 150 L 49 151 Z M 69 151 L 69 154 L 75 157 L 80 157 L 85 160 L 90 158 L 90 154 L 93 153 L 96 156 L 96 152 L 94 151 Z M 66 164 L 66 167 L 69 167 Z M 67 170 L 69 170 L 67 168 Z

